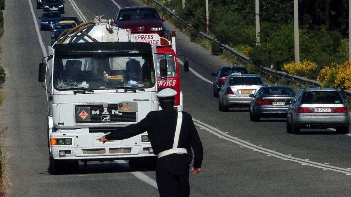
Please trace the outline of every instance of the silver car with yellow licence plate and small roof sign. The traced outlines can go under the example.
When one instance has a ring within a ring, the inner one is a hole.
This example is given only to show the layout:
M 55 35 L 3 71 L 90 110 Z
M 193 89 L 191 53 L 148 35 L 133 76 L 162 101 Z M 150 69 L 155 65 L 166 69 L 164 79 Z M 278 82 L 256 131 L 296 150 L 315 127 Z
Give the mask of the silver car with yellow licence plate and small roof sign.
M 260 87 L 265 86 L 261 76 L 255 74 L 232 73 L 227 77 L 218 93 L 219 111 L 228 111 L 230 107 L 249 107 L 253 99 L 250 94 L 255 94 Z

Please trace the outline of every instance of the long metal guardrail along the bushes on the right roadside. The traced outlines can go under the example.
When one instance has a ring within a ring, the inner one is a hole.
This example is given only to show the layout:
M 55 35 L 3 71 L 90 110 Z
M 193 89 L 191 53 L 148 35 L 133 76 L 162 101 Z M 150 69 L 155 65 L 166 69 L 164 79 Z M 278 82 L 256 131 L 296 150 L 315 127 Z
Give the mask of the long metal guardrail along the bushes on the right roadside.
M 175 15 L 170 9 L 168 9 L 167 7 L 163 6 L 163 4 L 161 4 L 160 2 L 156 1 L 156 0 L 148 0 L 148 1 L 152 1 L 154 4 L 160 6 L 161 8 L 164 9 L 165 12 L 167 12 L 169 15 L 171 15 L 172 17 L 176 18 L 179 22 L 182 23 L 183 26 L 192 29 L 193 31 L 197 32 L 198 36 L 200 36 L 203 39 L 209 40 L 211 42 L 216 42 L 217 45 L 223 49 L 226 50 L 227 52 L 231 53 L 232 55 L 238 57 L 240 60 L 244 61 L 245 63 L 250 63 L 249 61 L 249 57 L 246 57 L 243 54 L 240 54 L 239 52 L 237 52 L 235 49 L 224 45 L 223 43 L 219 42 L 217 39 L 212 38 L 209 35 L 206 35 L 203 32 L 199 32 L 198 30 L 196 30 L 195 28 L 192 27 L 192 25 L 186 23 L 183 19 L 179 18 L 179 16 Z M 301 83 L 301 84 L 305 84 L 311 87 L 316 87 L 319 88 L 322 83 L 315 81 L 315 80 L 310 80 L 307 79 L 306 77 L 300 77 L 297 75 L 291 75 L 285 72 L 281 72 L 281 71 L 277 71 L 277 70 L 273 70 L 271 68 L 266 68 L 263 66 L 257 66 L 254 65 L 260 72 L 265 73 L 265 74 L 269 74 L 269 75 L 274 75 L 289 81 L 293 81 L 293 82 L 297 82 L 297 83 Z M 346 96 L 351 98 L 351 91 L 350 90 L 342 90 L 341 93 Z

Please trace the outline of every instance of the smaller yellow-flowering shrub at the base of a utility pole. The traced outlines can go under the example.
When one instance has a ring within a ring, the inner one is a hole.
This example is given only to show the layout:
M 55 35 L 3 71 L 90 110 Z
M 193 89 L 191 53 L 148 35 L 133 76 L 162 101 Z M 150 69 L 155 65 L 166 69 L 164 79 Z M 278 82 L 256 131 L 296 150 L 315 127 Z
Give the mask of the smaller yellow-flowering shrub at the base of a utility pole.
M 317 69 L 318 66 L 316 63 L 307 60 L 304 60 L 297 65 L 295 62 L 284 63 L 282 68 L 283 71 L 286 71 L 289 74 L 307 77 L 308 79 L 316 79 Z

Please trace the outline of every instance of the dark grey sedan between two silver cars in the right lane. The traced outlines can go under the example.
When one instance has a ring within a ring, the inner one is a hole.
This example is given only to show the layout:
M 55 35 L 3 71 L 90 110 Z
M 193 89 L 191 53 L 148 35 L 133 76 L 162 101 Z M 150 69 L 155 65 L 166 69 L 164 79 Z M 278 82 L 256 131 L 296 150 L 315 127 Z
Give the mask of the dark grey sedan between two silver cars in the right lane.
M 286 118 L 290 101 L 295 96 L 290 86 L 263 86 L 250 103 L 250 120 L 259 121 L 260 118 Z

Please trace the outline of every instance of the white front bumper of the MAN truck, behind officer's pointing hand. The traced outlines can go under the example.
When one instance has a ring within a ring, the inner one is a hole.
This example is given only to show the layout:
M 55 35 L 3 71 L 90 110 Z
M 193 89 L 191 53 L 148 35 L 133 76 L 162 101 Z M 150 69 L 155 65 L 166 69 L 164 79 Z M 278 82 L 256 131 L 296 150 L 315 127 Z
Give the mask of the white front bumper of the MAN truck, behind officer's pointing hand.
M 150 142 L 140 142 L 140 135 L 126 140 L 106 142 L 105 144 L 96 140 L 103 135 L 106 135 L 106 133 L 51 133 L 50 138 L 72 139 L 72 145 L 50 145 L 52 156 L 54 159 L 88 161 L 111 161 L 155 156 Z

